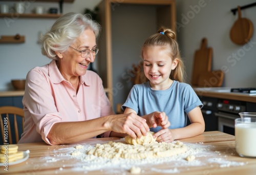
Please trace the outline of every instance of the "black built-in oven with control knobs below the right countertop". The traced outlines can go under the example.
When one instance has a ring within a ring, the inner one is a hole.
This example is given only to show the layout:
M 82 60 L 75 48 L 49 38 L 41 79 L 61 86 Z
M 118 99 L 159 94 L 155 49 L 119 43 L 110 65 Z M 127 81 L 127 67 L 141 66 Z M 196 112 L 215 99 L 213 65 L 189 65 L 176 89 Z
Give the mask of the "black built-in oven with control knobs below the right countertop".
M 246 112 L 246 102 L 219 99 L 217 109 L 218 130 L 234 135 L 234 120 L 240 118 L 239 113 Z

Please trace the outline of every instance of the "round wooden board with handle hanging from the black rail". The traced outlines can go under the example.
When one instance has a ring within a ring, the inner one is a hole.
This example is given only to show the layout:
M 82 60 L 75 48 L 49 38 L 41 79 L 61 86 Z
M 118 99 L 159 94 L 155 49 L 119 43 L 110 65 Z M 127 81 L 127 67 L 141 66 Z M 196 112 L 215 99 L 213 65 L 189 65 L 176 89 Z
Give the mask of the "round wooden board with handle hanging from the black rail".
M 253 25 L 249 19 L 241 17 L 240 6 L 238 6 L 238 19 L 233 24 L 229 34 L 232 42 L 237 45 L 244 45 L 252 37 Z

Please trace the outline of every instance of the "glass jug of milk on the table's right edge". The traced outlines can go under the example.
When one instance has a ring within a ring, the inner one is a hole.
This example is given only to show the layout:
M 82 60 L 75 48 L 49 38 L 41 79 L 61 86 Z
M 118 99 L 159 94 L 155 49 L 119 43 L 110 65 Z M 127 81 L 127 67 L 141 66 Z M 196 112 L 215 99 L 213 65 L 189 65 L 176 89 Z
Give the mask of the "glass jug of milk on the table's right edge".
M 235 120 L 236 150 L 241 157 L 256 158 L 256 113 L 239 113 Z

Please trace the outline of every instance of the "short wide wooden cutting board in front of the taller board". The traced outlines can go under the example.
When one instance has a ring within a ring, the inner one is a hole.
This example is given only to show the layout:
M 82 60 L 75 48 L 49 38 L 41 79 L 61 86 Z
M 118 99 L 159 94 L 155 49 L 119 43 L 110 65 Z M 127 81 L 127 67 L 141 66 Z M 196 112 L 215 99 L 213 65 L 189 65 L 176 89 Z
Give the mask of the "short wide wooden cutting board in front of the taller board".
M 198 86 L 201 87 L 220 87 L 224 79 L 224 73 L 221 70 L 204 72 L 198 77 Z

